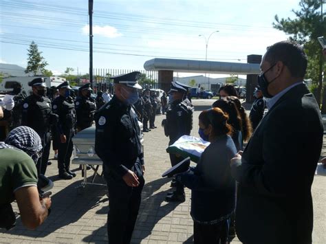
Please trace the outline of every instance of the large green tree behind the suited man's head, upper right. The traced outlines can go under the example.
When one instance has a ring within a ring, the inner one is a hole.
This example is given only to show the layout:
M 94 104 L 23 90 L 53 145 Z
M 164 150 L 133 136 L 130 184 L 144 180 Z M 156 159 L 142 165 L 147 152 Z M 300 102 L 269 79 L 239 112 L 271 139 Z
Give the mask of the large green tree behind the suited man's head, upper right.
M 292 10 L 296 16 L 295 19 L 279 19 L 276 14 L 276 23 L 273 23 L 273 27 L 277 30 L 290 34 L 291 41 L 303 45 L 308 57 L 305 78 L 311 79 L 318 85 L 315 92 L 318 104 L 321 102 L 323 89 L 323 71 L 326 71 L 321 47 L 317 40 L 318 36 L 326 36 L 325 13 L 322 15 L 320 11 L 321 4 L 323 4 L 322 0 L 301 0 L 299 1 L 301 10 Z M 326 112 L 326 107 L 323 110 Z

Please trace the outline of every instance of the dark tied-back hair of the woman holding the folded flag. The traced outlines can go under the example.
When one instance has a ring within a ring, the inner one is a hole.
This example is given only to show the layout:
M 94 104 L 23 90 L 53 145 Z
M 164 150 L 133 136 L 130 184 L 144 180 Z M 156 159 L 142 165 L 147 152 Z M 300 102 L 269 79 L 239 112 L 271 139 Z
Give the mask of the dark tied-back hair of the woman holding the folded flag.
M 213 108 L 202 111 L 199 114 L 199 121 L 207 128 L 210 124 L 213 127 L 215 136 L 228 135 L 232 133 L 232 126 L 228 124 L 228 114 L 219 108 Z

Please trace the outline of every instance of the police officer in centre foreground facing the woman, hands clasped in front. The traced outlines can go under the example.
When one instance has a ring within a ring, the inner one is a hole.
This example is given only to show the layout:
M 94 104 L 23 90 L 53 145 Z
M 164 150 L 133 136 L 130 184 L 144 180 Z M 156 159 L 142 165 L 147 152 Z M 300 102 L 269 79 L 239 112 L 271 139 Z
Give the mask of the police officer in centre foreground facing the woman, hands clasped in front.
M 109 190 L 109 243 L 130 243 L 144 186 L 144 154 L 133 104 L 140 72 L 112 77 L 115 95 L 96 113 L 95 151 Z

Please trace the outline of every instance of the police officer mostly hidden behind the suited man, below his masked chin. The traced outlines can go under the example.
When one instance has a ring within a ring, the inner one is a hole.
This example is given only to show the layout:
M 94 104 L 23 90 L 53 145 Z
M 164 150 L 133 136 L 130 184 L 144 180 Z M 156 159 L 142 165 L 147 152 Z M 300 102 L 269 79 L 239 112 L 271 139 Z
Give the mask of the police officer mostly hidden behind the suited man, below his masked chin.
M 265 100 L 263 99 L 263 93 L 259 87 L 254 90 L 254 102 L 250 109 L 249 118 L 252 123 L 252 129 L 256 129 L 259 122 L 263 118 L 263 111 L 265 110 Z

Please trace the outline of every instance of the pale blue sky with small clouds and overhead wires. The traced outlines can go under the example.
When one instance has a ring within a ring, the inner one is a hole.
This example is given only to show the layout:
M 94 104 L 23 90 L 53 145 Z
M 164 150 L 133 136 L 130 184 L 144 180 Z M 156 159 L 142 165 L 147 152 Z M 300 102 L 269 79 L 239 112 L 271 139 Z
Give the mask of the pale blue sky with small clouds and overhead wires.
M 94 0 L 94 68 L 144 70 L 153 58 L 205 60 L 207 40 L 207 60 L 246 63 L 247 55 L 263 55 L 288 38 L 272 23 L 275 14 L 294 18 L 298 2 Z M 26 67 L 34 41 L 54 74 L 66 67 L 88 73 L 88 0 L 0 0 L 0 18 L 0 63 Z

